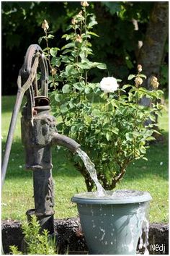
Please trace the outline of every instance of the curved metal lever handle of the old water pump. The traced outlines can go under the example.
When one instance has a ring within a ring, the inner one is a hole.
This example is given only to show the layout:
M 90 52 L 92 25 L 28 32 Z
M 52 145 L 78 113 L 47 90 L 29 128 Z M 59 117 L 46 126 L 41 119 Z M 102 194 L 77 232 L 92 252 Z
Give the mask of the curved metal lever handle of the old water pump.
M 1 168 L 1 179 L 2 185 L 4 184 L 4 179 L 6 176 L 6 168 L 9 162 L 9 155 L 12 148 L 12 140 L 14 137 L 14 129 L 17 123 L 17 115 L 22 104 L 22 99 L 24 93 L 27 94 L 27 104 L 30 105 L 30 119 L 32 118 L 32 106 L 35 104 L 35 96 L 37 96 L 37 88 L 33 88 L 32 83 L 36 79 L 37 67 L 40 64 L 41 69 L 41 85 L 42 93 L 47 97 L 48 96 L 48 66 L 42 49 L 40 46 L 34 44 L 27 49 L 27 53 L 24 59 L 24 64 L 22 69 L 19 70 L 19 76 L 17 79 L 17 98 L 14 106 L 14 111 L 12 113 L 12 119 L 10 122 L 9 132 L 6 140 L 6 148 L 4 153 L 4 159 L 2 162 Z M 35 91 L 34 91 L 35 90 Z

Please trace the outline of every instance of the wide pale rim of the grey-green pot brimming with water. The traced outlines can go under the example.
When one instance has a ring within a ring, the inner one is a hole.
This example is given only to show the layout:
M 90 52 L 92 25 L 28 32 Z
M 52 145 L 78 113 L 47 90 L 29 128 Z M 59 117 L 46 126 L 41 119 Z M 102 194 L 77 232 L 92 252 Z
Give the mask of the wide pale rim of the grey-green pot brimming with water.
M 124 196 L 112 197 L 113 192 L 122 192 L 122 194 L 124 193 Z M 125 194 L 128 196 L 125 196 Z M 76 194 L 71 198 L 71 202 L 91 205 L 120 205 L 127 203 L 148 202 L 150 200 L 152 200 L 152 197 L 149 192 L 130 189 L 107 191 L 107 197 L 97 197 L 97 192 L 86 192 Z

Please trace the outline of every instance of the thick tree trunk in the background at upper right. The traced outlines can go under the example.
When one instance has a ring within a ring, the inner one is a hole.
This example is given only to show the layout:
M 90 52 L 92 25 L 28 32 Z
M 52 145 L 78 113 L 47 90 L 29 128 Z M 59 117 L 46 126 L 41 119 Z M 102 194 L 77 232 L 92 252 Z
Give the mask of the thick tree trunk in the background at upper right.
M 148 80 L 153 75 L 160 77 L 168 37 L 168 20 L 169 3 L 167 1 L 154 2 L 146 36 L 138 56 L 138 64 L 142 64 L 143 72 Z M 149 83 L 146 84 L 146 87 L 149 89 Z

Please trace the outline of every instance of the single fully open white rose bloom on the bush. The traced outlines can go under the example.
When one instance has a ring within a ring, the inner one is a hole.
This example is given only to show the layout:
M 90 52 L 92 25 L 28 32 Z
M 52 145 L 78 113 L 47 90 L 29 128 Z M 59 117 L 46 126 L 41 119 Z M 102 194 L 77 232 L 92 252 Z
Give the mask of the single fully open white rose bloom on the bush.
M 103 77 L 100 82 L 101 90 L 104 90 L 104 93 L 114 93 L 119 85 L 117 84 L 117 80 L 115 77 Z

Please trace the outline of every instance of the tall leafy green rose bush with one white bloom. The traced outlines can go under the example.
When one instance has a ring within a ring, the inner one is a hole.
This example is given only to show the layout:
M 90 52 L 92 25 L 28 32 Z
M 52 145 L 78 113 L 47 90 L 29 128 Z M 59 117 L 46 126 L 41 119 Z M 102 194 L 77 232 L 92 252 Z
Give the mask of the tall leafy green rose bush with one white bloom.
M 52 108 L 55 116 L 61 118 L 58 131 L 73 137 L 94 162 L 97 176 L 104 189 L 114 189 L 125 175 L 129 163 L 140 158 L 146 159 L 148 142 L 154 140 L 156 115 L 161 112 L 163 92 L 157 90 L 158 81 L 153 77 L 152 90 L 142 87 L 142 67 L 138 65 L 137 74 L 131 74 L 125 85 L 118 85 L 115 77 L 104 77 L 99 83 L 89 81 L 92 68 L 106 69 L 106 65 L 91 61 L 91 36 L 97 24 L 94 14 L 86 11 L 87 2 L 81 2 L 81 11 L 76 14 L 68 27 L 69 33 L 63 35 L 66 45 L 49 48 L 52 38 L 45 28 L 45 49 L 50 61 L 50 85 Z M 47 24 L 46 24 L 47 25 Z M 44 27 L 43 27 L 44 29 Z M 59 51 L 59 54 L 58 54 Z M 157 83 L 156 83 L 157 82 Z M 59 88 L 62 87 L 62 90 Z M 151 106 L 141 106 L 140 99 L 150 98 Z M 146 124 L 146 120 L 152 122 Z M 69 153 L 67 153 L 69 156 Z M 77 170 L 84 176 L 88 191 L 94 189 L 89 173 L 81 159 L 70 155 Z

